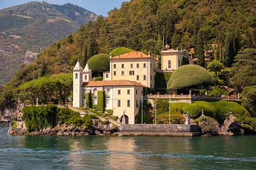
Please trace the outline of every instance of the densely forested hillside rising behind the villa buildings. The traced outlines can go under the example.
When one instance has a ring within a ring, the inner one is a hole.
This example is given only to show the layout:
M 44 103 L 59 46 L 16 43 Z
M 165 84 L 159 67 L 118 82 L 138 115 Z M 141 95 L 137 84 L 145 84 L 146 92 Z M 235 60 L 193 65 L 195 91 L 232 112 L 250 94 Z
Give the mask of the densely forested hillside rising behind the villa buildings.
M 223 63 L 228 68 L 223 76 L 236 89 L 235 93 L 256 85 L 255 0 L 130 0 L 108 15 L 81 25 L 76 33 L 43 50 L 33 63 L 22 65 L 11 82 L 2 88 L 2 92 L 9 94 L 2 94 L 0 105 L 6 106 L 15 99 L 9 89 L 41 76 L 72 72 L 77 59 L 109 54 L 121 46 L 153 55 L 159 55 L 167 46 L 182 48 L 198 60 L 211 57 Z M 239 57 L 243 59 L 247 54 L 252 64 L 243 61 L 241 65 L 235 64 L 233 70 L 229 69 Z M 244 73 L 248 76 L 238 71 L 242 65 L 250 70 Z M 243 77 L 250 83 L 243 84 Z

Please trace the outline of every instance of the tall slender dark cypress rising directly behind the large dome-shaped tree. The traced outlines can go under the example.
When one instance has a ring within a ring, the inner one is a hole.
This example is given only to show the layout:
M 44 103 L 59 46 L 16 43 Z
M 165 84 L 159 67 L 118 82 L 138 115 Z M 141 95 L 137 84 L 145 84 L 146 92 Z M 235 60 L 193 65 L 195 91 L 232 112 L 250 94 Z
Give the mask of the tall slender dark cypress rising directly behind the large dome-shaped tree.
M 198 32 L 198 40 L 197 40 L 197 65 L 200 65 L 204 68 L 204 44 L 203 44 L 203 36 L 202 36 L 202 30 L 199 30 Z

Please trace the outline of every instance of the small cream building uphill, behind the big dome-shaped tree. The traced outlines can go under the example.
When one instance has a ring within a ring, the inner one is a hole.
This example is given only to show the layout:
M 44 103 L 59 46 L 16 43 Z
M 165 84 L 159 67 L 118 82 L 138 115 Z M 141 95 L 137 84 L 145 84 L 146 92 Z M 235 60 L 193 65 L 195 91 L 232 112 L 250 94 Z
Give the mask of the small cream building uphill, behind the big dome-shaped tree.
M 192 57 L 186 51 L 168 49 L 162 50 L 160 53 L 162 55 L 162 70 L 177 70 L 182 66 L 183 57 L 189 59 L 189 64 L 193 64 Z

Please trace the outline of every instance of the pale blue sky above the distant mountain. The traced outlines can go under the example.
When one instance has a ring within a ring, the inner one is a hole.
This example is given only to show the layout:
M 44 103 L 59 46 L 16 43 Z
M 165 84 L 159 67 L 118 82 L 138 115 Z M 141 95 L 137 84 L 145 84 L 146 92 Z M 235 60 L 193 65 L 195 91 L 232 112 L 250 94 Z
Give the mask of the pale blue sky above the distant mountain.
M 19 4 L 26 4 L 27 2 L 45 1 L 49 4 L 74 4 L 82 7 L 86 10 L 89 10 L 96 15 L 103 15 L 104 17 L 108 17 L 108 12 L 114 9 L 115 7 L 119 9 L 121 7 L 122 2 L 129 0 L 0 0 L 0 10 L 8 7 L 13 7 Z

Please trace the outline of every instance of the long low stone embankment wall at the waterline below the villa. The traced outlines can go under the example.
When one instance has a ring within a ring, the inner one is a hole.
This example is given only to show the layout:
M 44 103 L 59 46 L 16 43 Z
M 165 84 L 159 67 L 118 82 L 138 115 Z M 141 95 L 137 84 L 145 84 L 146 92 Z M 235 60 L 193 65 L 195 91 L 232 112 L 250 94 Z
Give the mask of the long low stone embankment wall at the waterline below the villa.
M 198 124 L 121 124 L 122 132 L 200 132 Z

